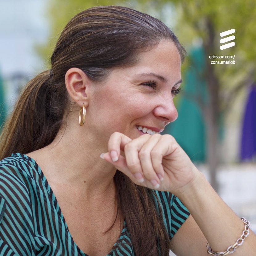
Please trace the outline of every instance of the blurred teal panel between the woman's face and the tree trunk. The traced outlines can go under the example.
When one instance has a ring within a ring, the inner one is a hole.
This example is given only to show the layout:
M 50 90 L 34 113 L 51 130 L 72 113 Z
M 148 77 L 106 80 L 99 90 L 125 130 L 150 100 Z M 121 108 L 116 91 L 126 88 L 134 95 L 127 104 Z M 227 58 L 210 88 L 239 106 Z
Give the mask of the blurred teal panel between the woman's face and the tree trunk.
M 184 73 L 182 93 L 177 106 L 178 118 L 170 123 L 165 133 L 171 134 L 193 162 L 206 159 L 206 140 L 203 115 L 198 102 L 207 101 L 207 87 L 203 79 L 204 54 L 202 49 L 192 49 L 188 55 L 189 67 Z

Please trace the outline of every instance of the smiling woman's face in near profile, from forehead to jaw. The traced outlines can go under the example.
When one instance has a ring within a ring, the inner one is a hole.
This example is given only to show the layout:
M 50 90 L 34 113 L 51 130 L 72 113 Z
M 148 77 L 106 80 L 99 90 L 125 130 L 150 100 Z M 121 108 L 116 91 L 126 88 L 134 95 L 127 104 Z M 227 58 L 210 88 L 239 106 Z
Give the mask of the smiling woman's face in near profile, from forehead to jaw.
M 115 131 L 132 139 L 161 132 L 178 116 L 173 97 L 180 83 L 179 52 L 173 42 L 163 40 L 138 54 L 135 65 L 114 69 L 102 86 L 95 86 L 86 124 L 104 140 Z

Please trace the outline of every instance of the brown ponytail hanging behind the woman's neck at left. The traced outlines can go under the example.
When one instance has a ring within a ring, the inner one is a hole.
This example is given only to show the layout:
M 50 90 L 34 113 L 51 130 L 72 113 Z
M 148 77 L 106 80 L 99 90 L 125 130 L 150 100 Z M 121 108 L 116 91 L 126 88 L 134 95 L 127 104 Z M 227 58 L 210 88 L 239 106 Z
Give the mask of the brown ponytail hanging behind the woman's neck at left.
M 58 90 L 63 86 L 56 87 L 50 80 L 50 70 L 43 71 L 23 89 L 2 129 L 0 159 L 14 152 L 35 151 L 56 137 L 67 106 L 67 94 Z

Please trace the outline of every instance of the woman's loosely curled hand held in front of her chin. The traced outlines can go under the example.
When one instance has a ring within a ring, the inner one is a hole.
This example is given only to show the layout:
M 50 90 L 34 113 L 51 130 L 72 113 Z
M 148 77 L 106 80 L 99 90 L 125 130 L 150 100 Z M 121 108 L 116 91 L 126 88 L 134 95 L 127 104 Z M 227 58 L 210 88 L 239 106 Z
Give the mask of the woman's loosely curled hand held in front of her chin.
M 124 152 L 124 156 L 121 155 Z M 171 135 L 144 134 L 136 139 L 115 132 L 101 158 L 135 184 L 161 191 L 182 192 L 198 170 Z

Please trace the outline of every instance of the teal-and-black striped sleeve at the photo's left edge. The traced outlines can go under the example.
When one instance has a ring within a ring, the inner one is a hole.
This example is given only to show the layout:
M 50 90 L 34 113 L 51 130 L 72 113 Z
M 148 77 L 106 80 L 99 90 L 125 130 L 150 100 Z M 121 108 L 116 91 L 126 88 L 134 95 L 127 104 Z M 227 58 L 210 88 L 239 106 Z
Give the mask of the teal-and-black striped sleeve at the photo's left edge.
M 33 255 L 34 235 L 28 184 L 19 168 L 0 167 L 0 256 Z

